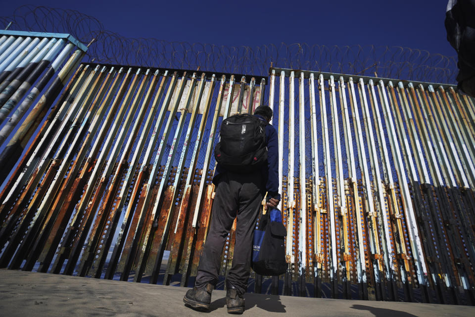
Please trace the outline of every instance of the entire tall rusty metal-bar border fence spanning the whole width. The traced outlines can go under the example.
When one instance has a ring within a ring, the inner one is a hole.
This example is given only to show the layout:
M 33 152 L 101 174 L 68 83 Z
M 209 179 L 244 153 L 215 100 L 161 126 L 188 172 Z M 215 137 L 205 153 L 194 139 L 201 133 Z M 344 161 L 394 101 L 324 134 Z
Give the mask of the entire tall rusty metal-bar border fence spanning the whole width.
M 190 286 L 219 124 L 268 103 L 289 269 L 252 273 L 250 291 L 475 304 L 475 105 L 455 86 L 81 62 L 70 35 L 13 33 L 0 38 L 0 267 Z M 33 47 L 37 64 L 5 83 Z M 223 277 L 234 243 L 232 229 Z

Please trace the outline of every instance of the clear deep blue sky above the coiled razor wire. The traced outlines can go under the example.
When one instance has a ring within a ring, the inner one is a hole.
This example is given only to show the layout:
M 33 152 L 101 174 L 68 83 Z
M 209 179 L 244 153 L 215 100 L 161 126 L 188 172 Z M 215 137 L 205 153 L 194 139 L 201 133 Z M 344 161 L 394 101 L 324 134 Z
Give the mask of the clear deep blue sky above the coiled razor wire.
M 74 9 L 127 37 L 251 46 L 285 42 L 402 46 L 456 55 L 446 41 L 447 0 L 59 1 L 2 3 Z

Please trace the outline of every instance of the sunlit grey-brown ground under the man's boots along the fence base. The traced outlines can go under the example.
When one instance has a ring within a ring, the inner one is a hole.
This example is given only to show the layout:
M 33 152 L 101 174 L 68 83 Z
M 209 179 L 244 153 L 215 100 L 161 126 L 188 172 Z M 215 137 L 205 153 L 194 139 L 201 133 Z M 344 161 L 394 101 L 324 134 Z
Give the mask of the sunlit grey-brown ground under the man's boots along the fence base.
M 0 317 L 227 316 L 225 291 L 209 313 L 184 306 L 188 288 L 0 269 Z M 243 316 L 475 316 L 469 306 L 245 294 Z

